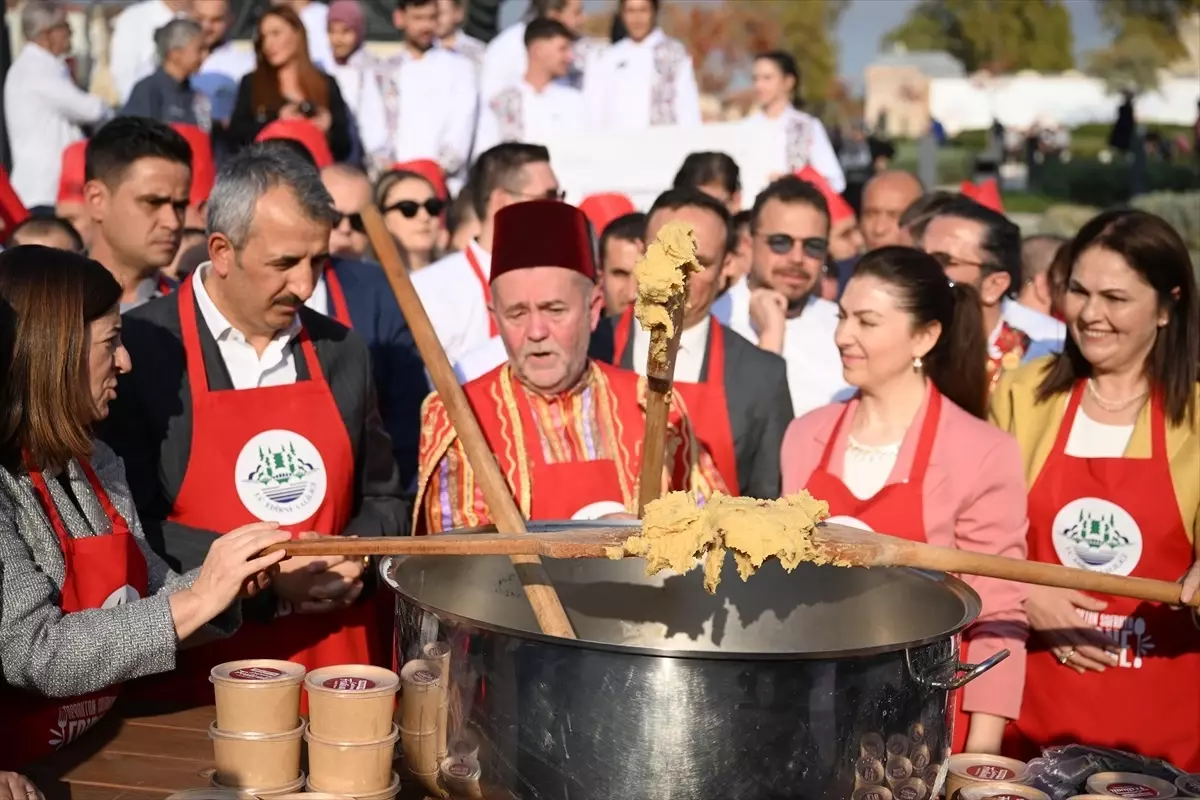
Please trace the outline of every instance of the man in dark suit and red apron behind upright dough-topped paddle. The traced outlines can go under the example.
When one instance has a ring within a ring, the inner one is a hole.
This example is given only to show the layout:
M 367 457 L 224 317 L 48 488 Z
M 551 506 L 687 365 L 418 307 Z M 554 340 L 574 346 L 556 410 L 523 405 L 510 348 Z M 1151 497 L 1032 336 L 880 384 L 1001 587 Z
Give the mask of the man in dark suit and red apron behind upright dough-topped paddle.
M 737 487 L 746 497 L 778 498 L 779 450 L 792 421 L 786 366 L 781 357 L 745 341 L 710 313 L 733 252 L 730 212 L 703 192 L 671 190 L 650 209 L 646 241 L 653 241 L 672 221 L 691 225 L 701 267 L 688 283 L 676 389 L 697 438 L 731 489 Z M 589 355 L 644 374 L 648 350 L 649 336 L 629 308 L 619 318 L 600 321 Z

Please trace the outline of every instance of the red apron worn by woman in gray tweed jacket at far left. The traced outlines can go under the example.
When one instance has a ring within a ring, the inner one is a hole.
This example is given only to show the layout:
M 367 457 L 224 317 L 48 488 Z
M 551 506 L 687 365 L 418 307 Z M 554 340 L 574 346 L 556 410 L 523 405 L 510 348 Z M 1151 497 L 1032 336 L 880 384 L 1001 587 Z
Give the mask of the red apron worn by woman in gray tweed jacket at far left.
M 46 479 L 30 469 L 34 493 L 62 548 L 64 581 L 59 608 L 64 615 L 113 608 L 145 597 L 146 561 L 130 527 L 86 462 L 79 462 L 91 491 L 112 523 L 112 533 L 73 539 L 54 507 Z M 67 699 L 49 698 L 0 685 L 0 769 L 18 769 L 79 738 L 113 708 L 121 686 Z

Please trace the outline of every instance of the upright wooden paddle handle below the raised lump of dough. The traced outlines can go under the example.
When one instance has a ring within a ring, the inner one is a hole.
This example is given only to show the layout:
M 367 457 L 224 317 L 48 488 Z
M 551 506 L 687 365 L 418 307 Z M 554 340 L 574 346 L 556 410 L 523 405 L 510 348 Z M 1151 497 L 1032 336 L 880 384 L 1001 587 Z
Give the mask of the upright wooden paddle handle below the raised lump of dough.
M 674 333 L 667 337 L 666 331 L 659 327 L 650 331 L 650 355 L 646 363 L 646 434 L 642 438 L 642 471 L 637 489 L 638 517 L 646 513 L 647 504 L 662 494 L 671 387 L 674 383 L 674 363 L 679 355 L 679 335 L 683 332 L 683 308 L 686 301 L 688 284 L 684 282 L 682 296 L 674 297 L 670 306 Z

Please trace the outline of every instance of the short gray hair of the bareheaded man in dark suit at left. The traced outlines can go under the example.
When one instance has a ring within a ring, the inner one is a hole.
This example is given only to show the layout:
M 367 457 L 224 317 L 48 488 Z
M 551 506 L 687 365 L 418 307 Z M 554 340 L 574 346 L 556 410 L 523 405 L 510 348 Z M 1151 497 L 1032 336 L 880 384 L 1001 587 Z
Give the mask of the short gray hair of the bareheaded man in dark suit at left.
M 288 148 L 264 142 L 245 148 L 217 173 L 209 194 L 209 235 L 223 234 L 235 251 L 242 249 L 259 198 L 280 186 L 292 190 L 307 219 L 329 225 L 336 222 L 334 198 L 317 168 Z

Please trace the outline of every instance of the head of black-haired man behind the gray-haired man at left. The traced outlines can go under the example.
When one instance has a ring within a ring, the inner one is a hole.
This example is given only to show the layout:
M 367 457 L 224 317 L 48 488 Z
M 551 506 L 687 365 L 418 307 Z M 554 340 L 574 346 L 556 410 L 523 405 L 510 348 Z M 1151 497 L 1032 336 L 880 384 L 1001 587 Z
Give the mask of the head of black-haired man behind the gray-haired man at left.
M 119 116 L 88 142 L 89 255 L 121 284 L 121 312 L 170 291 L 192 185 L 192 148 L 156 120 Z

